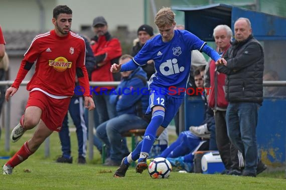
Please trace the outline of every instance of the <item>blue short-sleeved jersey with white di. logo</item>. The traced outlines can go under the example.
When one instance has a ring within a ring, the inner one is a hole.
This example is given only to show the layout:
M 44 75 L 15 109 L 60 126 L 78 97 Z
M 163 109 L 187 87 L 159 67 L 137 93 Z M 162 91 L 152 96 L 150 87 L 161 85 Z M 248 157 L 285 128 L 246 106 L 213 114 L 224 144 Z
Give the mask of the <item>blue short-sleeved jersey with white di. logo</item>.
M 205 43 L 187 30 L 175 30 L 171 41 L 162 41 L 161 35 L 148 40 L 133 60 L 138 65 L 154 60 L 156 72 L 149 80 L 150 89 L 166 88 L 167 93 L 182 97 L 191 69 L 191 50 L 201 50 Z

